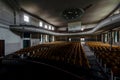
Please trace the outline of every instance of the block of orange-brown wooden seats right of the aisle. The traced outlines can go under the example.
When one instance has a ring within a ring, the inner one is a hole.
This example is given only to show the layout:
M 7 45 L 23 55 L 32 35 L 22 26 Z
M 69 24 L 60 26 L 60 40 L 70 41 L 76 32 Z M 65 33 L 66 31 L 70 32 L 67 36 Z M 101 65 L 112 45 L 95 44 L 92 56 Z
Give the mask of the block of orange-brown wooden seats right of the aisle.
M 106 73 L 114 76 L 111 80 L 120 78 L 120 47 L 102 42 L 87 42 L 86 45 L 94 52 L 98 62 Z

